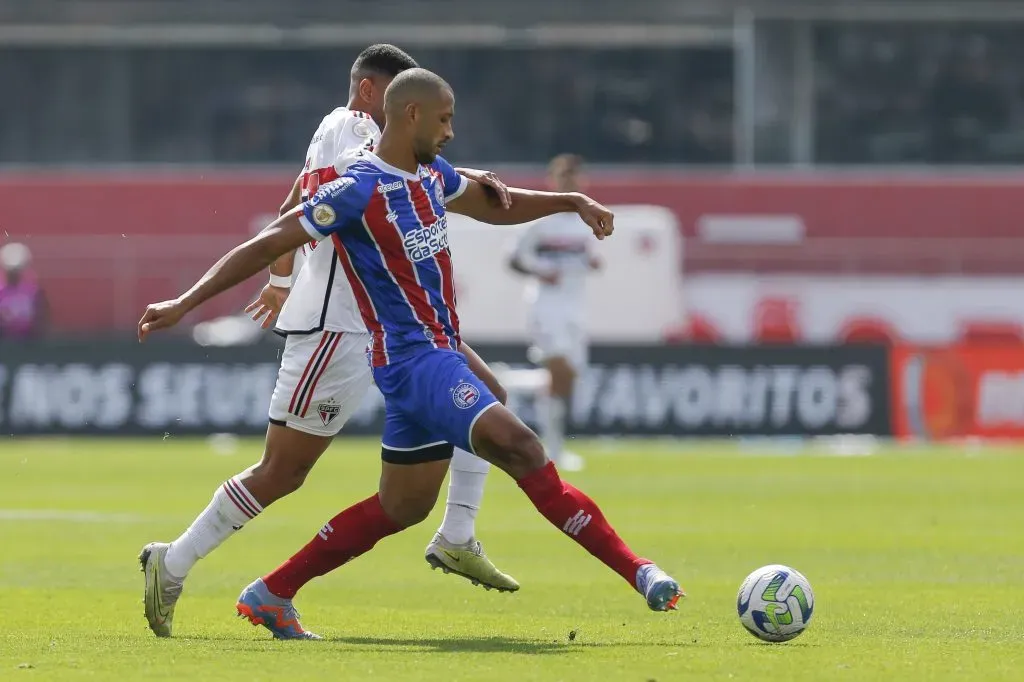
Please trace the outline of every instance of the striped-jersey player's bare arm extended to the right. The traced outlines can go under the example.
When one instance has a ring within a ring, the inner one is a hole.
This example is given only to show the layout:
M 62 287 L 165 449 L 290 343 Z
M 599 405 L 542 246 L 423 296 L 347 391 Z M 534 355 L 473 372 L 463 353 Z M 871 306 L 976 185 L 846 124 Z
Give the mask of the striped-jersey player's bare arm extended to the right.
M 512 205 L 502 208 L 498 198 L 479 182 L 466 179 L 466 188 L 451 200 L 447 210 L 493 225 L 515 225 L 555 213 L 578 213 L 599 240 L 614 230 L 614 214 L 587 195 L 575 191 L 536 191 L 509 187 Z

